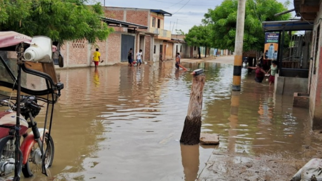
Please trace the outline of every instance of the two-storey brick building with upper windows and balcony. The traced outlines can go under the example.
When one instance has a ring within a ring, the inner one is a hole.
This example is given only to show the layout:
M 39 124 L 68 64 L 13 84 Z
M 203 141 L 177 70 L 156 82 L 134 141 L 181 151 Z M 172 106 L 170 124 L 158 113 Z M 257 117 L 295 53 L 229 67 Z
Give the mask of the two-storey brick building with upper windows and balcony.
M 105 16 L 147 26 L 137 29 L 135 49 L 144 50 L 145 60 L 165 60 L 172 58 L 173 43 L 171 31 L 164 29 L 165 16 L 172 14 L 161 9 L 127 7 L 105 7 Z M 118 30 L 122 31 L 122 30 Z M 123 29 L 126 31 L 126 29 Z M 144 43 L 143 43 L 144 42 Z

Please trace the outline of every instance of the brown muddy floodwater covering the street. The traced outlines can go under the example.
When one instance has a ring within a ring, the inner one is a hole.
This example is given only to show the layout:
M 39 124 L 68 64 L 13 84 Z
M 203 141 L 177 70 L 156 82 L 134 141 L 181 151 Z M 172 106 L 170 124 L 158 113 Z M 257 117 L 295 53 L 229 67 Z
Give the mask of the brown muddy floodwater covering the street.
M 243 89 L 232 96 L 232 65 L 185 66 L 207 70 L 202 132 L 220 134 L 220 146 L 180 146 L 192 78 L 173 62 L 59 70 L 65 88 L 55 107 L 51 177 L 23 181 L 194 181 L 213 151 L 316 154 L 303 148 L 314 142 L 308 111 L 293 109 L 292 97 L 275 97 L 244 70 Z

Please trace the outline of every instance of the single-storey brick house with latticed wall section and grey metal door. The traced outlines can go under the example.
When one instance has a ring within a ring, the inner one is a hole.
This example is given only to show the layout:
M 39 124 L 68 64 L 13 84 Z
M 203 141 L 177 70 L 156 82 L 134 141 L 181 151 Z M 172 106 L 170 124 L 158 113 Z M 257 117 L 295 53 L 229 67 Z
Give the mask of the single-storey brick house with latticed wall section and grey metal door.
M 95 48 L 99 48 L 101 60 L 99 65 L 112 65 L 115 63 L 127 61 L 127 52 L 134 48 L 135 37 L 138 32 L 134 33 L 136 28 L 147 29 L 147 26 L 120 21 L 112 18 L 102 18 L 102 21 L 110 27 L 114 27 L 115 32 L 111 33 L 105 41 L 98 41 L 96 44 L 90 44 L 87 40 L 68 41 L 60 46 L 60 51 L 64 56 L 64 67 L 85 67 L 91 66 L 92 56 Z M 120 29 L 127 31 L 120 31 Z M 141 37 L 141 36 L 139 36 Z M 131 42 L 132 41 L 132 42 Z M 149 38 L 146 38 L 149 43 Z

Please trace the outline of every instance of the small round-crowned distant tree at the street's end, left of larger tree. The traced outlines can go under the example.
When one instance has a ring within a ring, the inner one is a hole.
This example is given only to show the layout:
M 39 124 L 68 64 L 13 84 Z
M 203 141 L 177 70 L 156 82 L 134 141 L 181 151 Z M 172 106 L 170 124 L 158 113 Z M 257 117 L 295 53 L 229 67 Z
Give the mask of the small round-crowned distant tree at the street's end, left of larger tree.
M 209 38 L 209 34 L 211 29 L 207 25 L 194 25 L 189 32 L 186 34 L 185 41 L 189 46 L 197 46 L 198 47 L 198 58 L 201 58 L 200 46 L 204 46 L 207 48 L 211 47 L 211 39 Z M 205 53 L 205 57 L 207 53 Z

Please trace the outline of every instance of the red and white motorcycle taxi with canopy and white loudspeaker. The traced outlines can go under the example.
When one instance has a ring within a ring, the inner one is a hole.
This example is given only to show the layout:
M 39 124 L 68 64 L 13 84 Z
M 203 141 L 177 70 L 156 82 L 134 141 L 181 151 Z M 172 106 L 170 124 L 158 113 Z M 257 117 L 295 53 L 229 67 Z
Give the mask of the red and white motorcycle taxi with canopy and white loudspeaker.
M 63 57 L 59 53 L 54 63 L 56 47 L 50 38 L 13 31 L 0 32 L 1 50 L 14 51 L 17 58 L 14 62 L 0 56 L 0 108 L 6 108 L 0 112 L 0 181 L 19 181 L 21 173 L 29 178 L 40 168 L 47 176 L 54 157 L 53 109 L 63 89 L 54 65 L 63 66 Z M 40 89 L 28 86 L 28 76 L 36 77 Z M 34 119 L 45 108 L 39 101 L 47 104 L 43 128 Z

